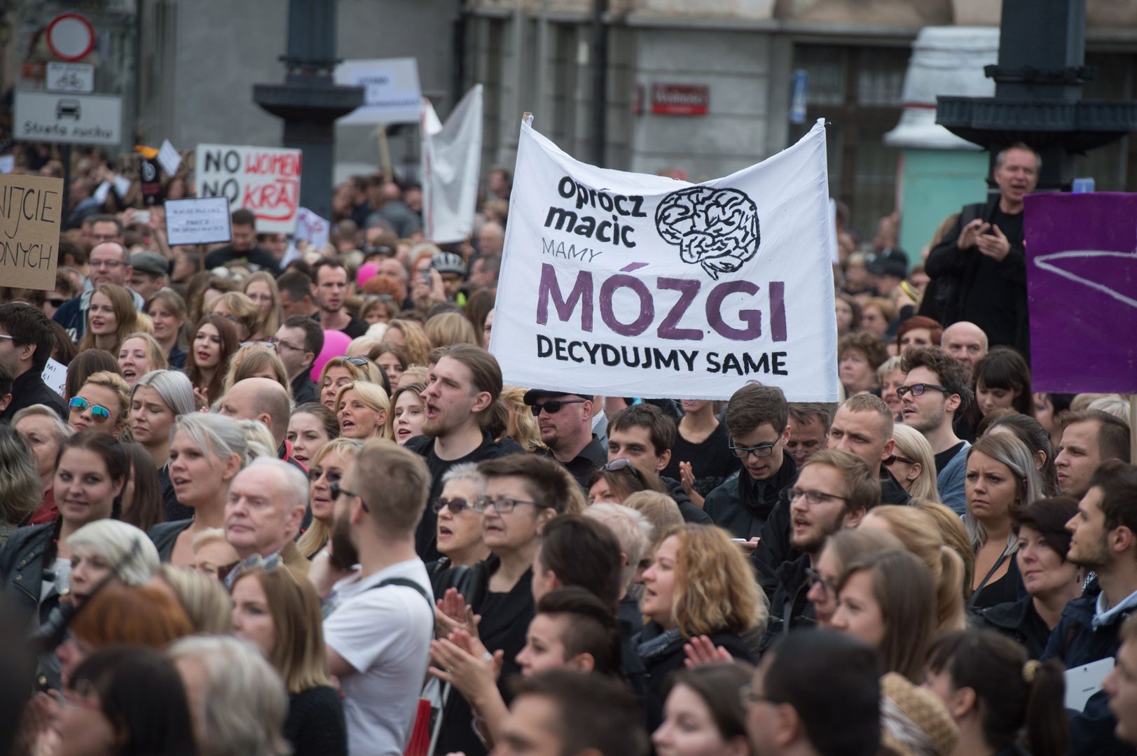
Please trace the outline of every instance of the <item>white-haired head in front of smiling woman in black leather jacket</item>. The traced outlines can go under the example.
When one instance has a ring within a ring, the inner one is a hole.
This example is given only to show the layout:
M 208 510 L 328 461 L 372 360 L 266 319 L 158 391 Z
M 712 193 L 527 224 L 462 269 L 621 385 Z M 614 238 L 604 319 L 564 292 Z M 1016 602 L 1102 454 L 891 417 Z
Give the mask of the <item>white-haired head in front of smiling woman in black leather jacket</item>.
M 67 539 L 72 553 L 70 597 L 82 606 L 110 581 L 146 585 L 158 571 L 158 549 L 146 533 L 118 520 L 97 520 Z

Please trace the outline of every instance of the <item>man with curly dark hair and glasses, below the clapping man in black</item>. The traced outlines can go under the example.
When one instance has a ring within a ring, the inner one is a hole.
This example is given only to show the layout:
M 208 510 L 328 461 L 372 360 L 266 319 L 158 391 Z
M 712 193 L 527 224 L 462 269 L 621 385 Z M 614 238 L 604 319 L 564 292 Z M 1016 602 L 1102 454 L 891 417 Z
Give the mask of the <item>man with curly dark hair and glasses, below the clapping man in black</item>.
M 904 385 L 901 398 L 904 424 L 923 433 L 936 455 L 936 483 L 940 500 L 962 515 L 966 508 L 964 477 L 968 449 L 952 427 L 971 404 L 970 371 L 939 347 L 915 347 L 901 360 Z

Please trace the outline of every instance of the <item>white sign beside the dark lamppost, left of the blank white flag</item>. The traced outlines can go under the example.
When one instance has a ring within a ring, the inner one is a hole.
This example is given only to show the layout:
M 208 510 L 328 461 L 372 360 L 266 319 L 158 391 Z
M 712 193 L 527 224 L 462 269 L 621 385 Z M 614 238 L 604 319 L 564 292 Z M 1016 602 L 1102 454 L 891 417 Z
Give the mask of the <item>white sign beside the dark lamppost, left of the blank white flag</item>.
M 414 58 L 345 60 L 335 83 L 364 88 L 364 105 L 338 124 L 416 124 L 422 109 L 418 61 Z

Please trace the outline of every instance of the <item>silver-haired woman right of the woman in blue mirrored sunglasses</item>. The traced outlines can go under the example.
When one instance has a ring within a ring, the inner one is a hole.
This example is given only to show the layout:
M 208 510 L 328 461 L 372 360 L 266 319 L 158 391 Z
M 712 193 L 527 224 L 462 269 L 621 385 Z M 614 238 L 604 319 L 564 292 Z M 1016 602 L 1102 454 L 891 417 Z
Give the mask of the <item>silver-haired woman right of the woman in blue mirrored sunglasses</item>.
M 169 441 L 174 421 L 196 409 L 193 384 L 181 371 L 150 371 L 131 390 L 131 433 L 150 455 L 158 471 L 158 488 L 167 521 L 193 516 L 189 507 L 179 504 L 169 481 Z

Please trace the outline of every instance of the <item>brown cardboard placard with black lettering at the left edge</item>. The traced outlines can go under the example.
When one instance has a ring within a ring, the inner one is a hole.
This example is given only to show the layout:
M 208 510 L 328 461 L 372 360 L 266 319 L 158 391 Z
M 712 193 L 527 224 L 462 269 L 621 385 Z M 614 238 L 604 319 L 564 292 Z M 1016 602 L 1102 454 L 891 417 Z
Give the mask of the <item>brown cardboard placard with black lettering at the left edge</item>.
M 0 281 L 16 289 L 56 288 L 64 180 L 0 175 Z

